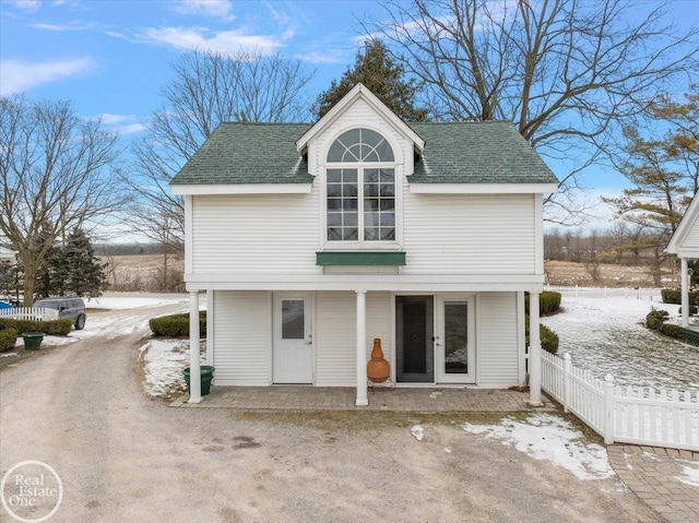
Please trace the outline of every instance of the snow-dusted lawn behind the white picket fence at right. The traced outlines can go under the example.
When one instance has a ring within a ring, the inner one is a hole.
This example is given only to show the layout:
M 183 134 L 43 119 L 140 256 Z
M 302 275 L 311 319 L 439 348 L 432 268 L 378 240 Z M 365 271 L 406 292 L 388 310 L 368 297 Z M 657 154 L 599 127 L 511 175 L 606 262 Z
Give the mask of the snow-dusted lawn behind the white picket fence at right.
M 570 353 L 574 366 L 617 383 L 699 391 L 699 348 L 649 331 L 652 308 L 678 322 L 678 306 L 649 298 L 576 298 L 564 293 L 562 312 L 542 318 L 560 338 L 558 356 Z

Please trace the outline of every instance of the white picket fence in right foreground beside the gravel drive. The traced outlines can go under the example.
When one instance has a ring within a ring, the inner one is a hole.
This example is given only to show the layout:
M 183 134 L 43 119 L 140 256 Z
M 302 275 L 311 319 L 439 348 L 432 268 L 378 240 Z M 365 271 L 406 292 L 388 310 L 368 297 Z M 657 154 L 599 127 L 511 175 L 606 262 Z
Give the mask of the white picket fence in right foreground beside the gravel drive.
M 699 393 L 615 385 L 542 350 L 542 389 L 604 442 L 699 451 Z

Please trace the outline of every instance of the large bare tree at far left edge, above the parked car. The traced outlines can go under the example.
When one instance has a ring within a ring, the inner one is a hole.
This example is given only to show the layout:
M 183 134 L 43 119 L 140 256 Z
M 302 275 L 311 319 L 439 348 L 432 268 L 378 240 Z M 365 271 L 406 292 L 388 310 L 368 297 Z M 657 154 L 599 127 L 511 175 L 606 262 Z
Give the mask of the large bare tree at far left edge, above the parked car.
M 79 118 L 70 102 L 0 98 L 0 231 L 24 268 L 24 302 L 56 240 L 118 209 L 117 134 Z

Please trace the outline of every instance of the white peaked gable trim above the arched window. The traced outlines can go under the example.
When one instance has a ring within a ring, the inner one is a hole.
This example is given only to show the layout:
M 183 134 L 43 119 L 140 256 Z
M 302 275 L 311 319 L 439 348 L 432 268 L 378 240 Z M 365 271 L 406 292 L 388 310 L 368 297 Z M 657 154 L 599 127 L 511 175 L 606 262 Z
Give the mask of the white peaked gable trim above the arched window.
M 363 99 L 369 107 L 371 107 L 383 120 L 389 123 L 400 134 L 406 136 L 413 142 L 415 151 L 418 153 L 423 151 L 425 141 L 401 120 L 395 114 L 389 109 L 383 102 L 371 93 L 364 84 L 358 83 L 350 93 L 347 93 L 340 102 L 337 102 L 332 109 L 330 109 L 320 120 L 318 120 L 301 138 L 296 142 L 296 148 L 300 153 L 305 153 L 308 148 L 308 144 L 332 126 L 344 112 L 352 107 L 358 99 Z

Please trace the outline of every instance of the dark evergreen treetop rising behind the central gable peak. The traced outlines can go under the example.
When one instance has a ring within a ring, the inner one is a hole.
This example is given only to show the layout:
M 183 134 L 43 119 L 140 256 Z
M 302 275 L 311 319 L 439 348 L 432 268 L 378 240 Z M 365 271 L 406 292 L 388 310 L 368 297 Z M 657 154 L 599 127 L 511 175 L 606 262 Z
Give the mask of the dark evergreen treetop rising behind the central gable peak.
M 354 69 L 347 69 L 340 83 L 332 81 L 313 104 L 313 114 L 321 118 L 358 83 L 366 85 L 386 106 L 406 122 L 426 121 L 427 109 L 414 105 L 418 87 L 414 80 L 405 80 L 403 66 L 388 54 L 383 43 L 369 40 L 357 52 Z

